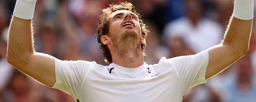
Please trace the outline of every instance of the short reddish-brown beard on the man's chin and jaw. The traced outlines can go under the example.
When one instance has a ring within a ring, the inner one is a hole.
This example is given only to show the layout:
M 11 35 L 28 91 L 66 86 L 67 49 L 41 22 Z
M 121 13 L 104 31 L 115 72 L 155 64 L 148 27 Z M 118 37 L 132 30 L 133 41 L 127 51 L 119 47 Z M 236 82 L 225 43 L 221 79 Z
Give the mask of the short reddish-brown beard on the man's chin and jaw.
M 110 36 L 113 41 L 114 52 L 120 56 L 132 52 L 138 55 L 137 49 L 141 46 L 141 36 L 135 31 L 125 31 L 123 34 L 113 34 Z

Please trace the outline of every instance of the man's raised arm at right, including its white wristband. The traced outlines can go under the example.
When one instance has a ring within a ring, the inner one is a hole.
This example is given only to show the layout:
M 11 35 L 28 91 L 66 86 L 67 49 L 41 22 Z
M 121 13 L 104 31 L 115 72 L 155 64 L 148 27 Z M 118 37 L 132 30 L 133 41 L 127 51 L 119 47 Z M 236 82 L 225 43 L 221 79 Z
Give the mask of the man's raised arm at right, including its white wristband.
M 205 79 L 221 72 L 248 52 L 252 18 L 253 0 L 235 0 L 233 16 L 230 18 L 223 41 L 209 49 Z

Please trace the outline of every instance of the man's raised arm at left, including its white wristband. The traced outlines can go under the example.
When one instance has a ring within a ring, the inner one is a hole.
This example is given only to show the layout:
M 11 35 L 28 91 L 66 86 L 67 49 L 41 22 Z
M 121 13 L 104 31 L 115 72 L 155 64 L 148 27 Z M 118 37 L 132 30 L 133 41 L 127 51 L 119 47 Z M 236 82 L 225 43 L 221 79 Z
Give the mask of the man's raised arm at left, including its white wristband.
M 33 49 L 31 19 L 35 1 L 17 0 L 16 2 L 9 28 L 7 61 L 18 70 L 51 87 L 56 82 L 54 57 L 35 52 Z

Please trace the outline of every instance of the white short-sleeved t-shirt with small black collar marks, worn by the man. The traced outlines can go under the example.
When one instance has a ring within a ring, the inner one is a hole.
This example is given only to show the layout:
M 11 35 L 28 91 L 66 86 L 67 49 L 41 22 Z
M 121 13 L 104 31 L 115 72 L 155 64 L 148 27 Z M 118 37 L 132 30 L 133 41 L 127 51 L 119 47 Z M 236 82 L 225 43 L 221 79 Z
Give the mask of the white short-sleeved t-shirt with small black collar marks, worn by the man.
M 181 102 L 185 92 L 206 83 L 208 50 L 138 68 L 109 66 L 55 58 L 52 88 L 70 94 L 76 102 Z

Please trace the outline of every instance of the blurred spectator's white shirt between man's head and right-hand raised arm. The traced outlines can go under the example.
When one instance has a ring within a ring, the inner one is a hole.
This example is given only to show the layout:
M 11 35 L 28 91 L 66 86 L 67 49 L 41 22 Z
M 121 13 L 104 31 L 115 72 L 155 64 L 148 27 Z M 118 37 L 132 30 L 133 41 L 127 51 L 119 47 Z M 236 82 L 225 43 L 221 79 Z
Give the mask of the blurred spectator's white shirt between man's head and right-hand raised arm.
M 222 27 L 207 18 L 202 18 L 194 26 L 187 17 L 182 17 L 167 24 L 164 30 L 165 43 L 174 37 L 181 37 L 195 53 L 199 53 L 221 42 Z M 170 43 L 170 42 L 169 42 Z

